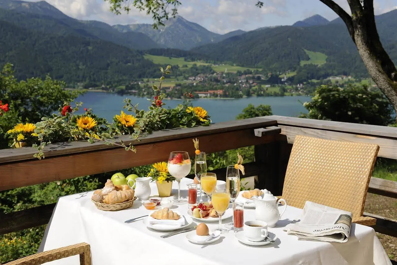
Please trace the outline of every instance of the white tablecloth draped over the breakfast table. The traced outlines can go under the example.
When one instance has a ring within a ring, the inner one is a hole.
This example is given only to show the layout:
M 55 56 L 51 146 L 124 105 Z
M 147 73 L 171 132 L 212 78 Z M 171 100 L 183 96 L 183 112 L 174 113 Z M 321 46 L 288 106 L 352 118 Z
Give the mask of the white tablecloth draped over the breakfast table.
M 191 179 L 182 179 L 182 195 L 187 195 L 186 184 Z M 172 195 L 177 194 L 173 183 Z M 157 188 L 151 183 L 152 195 Z M 277 235 L 276 243 L 261 247 L 241 244 L 234 232 L 222 235 L 209 245 L 196 245 L 187 241 L 186 233 L 162 239 L 162 234 L 148 230 L 142 220 L 125 224 L 124 221 L 148 214 L 139 201 L 132 208 L 117 212 L 98 210 L 91 202 L 89 192 L 60 197 L 52 220 L 42 242 L 44 250 L 64 247 L 80 242 L 91 246 L 94 265 L 121 264 L 391 264 L 374 230 L 367 226 L 352 224 L 349 241 L 346 243 L 298 241 L 287 235 L 283 226 L 301 216 L 301 209 L 287 207 L 282 220 L 269 231 Z M 179 206 L 180 212 L 187 205 Z M 254 220 L 254 210 L 245 209 L 244 220 Z M 226 220 L 230 222 L 231 220 Z M 207 223 L 211 229 L 217 223 Z M 79 264 L 78 256 L 46 264 Z

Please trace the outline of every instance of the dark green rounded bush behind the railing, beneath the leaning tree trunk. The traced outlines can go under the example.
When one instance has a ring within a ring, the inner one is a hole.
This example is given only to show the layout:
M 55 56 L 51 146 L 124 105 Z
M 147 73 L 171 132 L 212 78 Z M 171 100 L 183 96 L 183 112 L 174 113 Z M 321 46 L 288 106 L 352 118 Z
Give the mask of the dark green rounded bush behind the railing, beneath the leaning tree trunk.
M 316 89 L 312 101 L 303 105 L 309 111 L 301 115 L 303 118 L 384 126 L 392 121 L 393 108 L 389 101 L 365 85 L 348 84 L 345 89 L 322 85 Z

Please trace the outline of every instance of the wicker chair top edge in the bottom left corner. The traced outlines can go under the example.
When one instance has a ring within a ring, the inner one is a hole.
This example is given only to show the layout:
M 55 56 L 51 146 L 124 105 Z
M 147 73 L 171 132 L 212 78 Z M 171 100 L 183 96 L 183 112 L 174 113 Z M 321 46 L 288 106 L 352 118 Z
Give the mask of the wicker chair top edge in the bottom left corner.
M 23 257 L 4 265 L 39 265 L 49 261 L 62 259 L 74 255 L 80 255 L 80 265 L 91 265 L 91 249 L 87 243 L 75 244 L 67 247 L 60 247 L 53 250 L 44 251 Z M 1 263 L 0 263 L 1 265 Z

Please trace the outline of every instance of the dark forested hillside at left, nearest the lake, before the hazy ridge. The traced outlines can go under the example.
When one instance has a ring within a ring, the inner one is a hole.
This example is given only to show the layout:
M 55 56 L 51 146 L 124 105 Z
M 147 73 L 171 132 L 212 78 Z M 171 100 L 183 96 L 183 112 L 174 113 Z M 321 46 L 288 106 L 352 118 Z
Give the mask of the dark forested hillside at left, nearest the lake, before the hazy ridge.
M 0 65 L 11 62 L 19 79 L 49 74 L 68 84 L 117 84 L 157 70 L 138 52 L 98 39 L 31 31 L 1 20 L 0 36 Z

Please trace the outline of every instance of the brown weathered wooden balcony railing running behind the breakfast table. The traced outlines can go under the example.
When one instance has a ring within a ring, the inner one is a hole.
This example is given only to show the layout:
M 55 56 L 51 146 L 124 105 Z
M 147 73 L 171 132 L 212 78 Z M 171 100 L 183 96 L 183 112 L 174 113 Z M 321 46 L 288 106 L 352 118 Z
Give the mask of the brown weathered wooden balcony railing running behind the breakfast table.
M 210 127 L 158 131 L 140 141 L 123 136 L 121 140 L 126 144 L 132 142 L 136 146 L 136 153 L 101 142 L 51 144 L 46 147 L 43 160 L 33 158 L 33 148 L 2 150 L 0 191 L 148 165 L 163 161 L 174 150 L 187 150 L 193 156 L 191 139 L 197 137 L 200 149 L 207 153 L 254 146 L 255 162 L 245 164 L 246 176 L 258 176 L 258 187 L 281 194 L 289 154 L 297 134 L 376 143 L 380 146 L 379 156 L 397 159 L 397 128 L 267 116 L 217 123 Z M 216 170 L 216 173 L 222 178 L 225 169 Z M 368 192 L 397 198 L 397 182 L 372 178 Z M 50 204 L 0 215 L 0 234 L 48 223 L 54 206 Z M 366 215 L 377 219 L 376 231 L 397 237 L 395 220 Z

